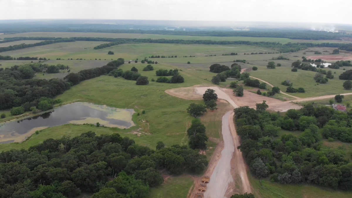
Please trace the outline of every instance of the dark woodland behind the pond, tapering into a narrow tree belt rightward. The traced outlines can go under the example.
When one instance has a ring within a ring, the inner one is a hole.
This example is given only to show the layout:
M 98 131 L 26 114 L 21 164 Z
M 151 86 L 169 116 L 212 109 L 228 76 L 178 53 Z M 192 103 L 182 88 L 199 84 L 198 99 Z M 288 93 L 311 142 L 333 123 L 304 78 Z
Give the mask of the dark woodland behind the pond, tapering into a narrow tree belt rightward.
M 70 73 L 64 79 L 32 79 L 36 72 L 56 73 L 59 69 L 67 69 L 67 66 L 58 64 L 48 66 L 42 63 L 31 63 L 11 68 L 0 68 L 0 110 L 11 109 L 12 107 L 23 107 L 29 111 L 30 107 L 38 106 L 40 98 L 53 98 L 62 94 L 72 85 L 77 85 L 83 80 L 108 74 L 121 64 L 124 59 L 109 62 L 106 66 L 81 70 L 78 73 Z

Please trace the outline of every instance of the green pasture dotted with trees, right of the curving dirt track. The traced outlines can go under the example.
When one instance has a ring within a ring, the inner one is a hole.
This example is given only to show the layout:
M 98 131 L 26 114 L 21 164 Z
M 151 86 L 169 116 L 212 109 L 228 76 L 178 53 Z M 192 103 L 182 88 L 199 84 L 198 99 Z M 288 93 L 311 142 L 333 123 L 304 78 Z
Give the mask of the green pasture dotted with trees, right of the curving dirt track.
M 265 80 L 274 86 L 278 86 L 281 91 L 286 92 L 287 86 L 281 85 L 284 80 L 290 80 L 294 88 L 303 87 L 306 93 L 289 93 L 296 97 L 307 98 L 320 95 L 330 95 L 339 93 L 348 93 L 342 87 L 344 80 L 339 80 L 339 75 L 344 72 L 342 69 L 327 69 L 336 72 L 333 79 L 329 79 L 326 84 L 318 84 L 313 79 L 316 72 L 298 69 L 297 72 L 291 72 L 291 67 L 282 66 L 276 69 L 268 69 L 266 66 L 257 66 L 258 70 L 251 71 L 250 75 Z M 346 67 L 345 67 L 346 68 Z M 347 68 L 348 69 L 348 68 Z

